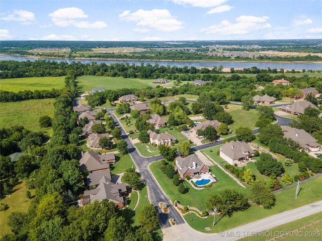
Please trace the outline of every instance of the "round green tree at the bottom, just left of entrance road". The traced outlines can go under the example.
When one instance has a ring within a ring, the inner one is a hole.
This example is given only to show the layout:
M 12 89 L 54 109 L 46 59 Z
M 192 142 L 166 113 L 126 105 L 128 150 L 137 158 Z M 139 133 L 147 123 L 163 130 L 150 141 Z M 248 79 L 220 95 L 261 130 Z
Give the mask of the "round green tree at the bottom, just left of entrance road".
M 158 225 L 158 213 L 153 207 L 153 204 L 145 205 L 142 207 L 138 216 L 139 223 L 146 230 L 151 230 Z

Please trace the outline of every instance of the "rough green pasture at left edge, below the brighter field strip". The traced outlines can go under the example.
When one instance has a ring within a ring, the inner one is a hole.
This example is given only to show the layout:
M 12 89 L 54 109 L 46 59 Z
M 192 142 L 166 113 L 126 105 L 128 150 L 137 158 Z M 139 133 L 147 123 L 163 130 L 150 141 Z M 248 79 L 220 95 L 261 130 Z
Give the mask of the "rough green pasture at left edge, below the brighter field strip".
M 40 128 L 39 117 L 54 115 L 55 99 L 30 99 L 19 102 L 0 102 L 0 128 L 23 126 L 30 131 L 48 134 L 51 128 Z

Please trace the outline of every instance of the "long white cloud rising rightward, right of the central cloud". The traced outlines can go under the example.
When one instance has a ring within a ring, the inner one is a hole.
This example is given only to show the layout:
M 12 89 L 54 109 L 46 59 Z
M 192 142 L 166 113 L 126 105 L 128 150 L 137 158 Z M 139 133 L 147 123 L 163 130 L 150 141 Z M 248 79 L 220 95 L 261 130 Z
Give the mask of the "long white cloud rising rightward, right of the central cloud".
M 201 29 L 206 34 L 248 34 L 260 29 L 271 28 L 271 25 L 265 23 L 268 17 L 240 16 L 236 18 L 237 23 L 230 23 L 228 20 L 221 21 L 218 25 L 212 25 L 208 28 Z M 261 24 L 264 23 L 264 24 Z

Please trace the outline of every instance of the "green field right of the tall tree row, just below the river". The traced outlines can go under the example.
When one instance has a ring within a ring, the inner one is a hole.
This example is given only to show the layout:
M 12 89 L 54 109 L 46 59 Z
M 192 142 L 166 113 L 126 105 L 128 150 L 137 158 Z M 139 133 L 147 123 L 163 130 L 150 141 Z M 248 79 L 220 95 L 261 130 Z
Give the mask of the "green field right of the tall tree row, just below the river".
M 81 92 L 92 91 L 96 87 L 104 89 L 145 88 L 153 85 L 151 79 L 131 79 L 123 77 L 83 75 L 77 77 L 77 85 Z

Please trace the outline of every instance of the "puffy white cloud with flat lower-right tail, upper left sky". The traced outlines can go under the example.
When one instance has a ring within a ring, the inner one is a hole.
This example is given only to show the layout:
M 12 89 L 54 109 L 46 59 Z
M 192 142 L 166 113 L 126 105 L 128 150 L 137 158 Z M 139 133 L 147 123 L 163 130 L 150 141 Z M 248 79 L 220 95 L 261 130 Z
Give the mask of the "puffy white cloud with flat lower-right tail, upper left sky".
M 59 27 L 75 26 L 83 29 L 102 29 L 107 25 L 103 21 L 90 23 L 88 21 L 77 21 L 77 19 L 86 19 L 88 15 L 82 9 L 78 8 L 64 8 L 58 9 L 48 15 L 52 22 Z

